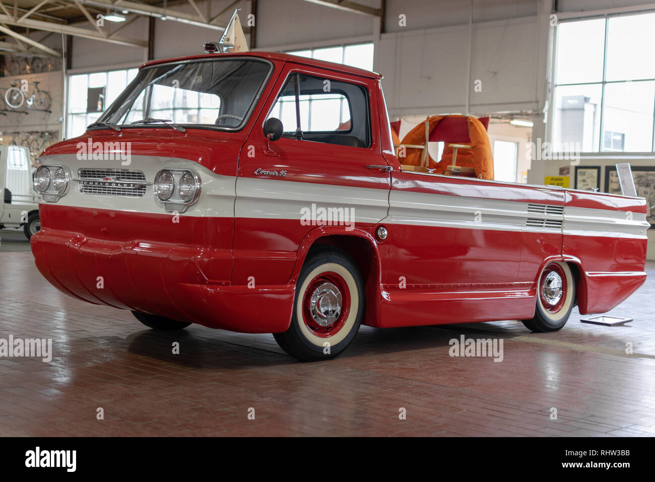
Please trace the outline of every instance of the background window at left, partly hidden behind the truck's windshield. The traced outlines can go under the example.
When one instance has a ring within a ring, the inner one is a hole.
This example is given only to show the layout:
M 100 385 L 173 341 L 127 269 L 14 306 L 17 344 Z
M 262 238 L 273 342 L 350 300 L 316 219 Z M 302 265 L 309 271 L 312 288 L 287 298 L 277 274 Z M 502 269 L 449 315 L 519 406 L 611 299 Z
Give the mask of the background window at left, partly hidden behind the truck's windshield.
M 84 134 L 86 126 L 98 120 L 138 71 L 112 70 L 71 75 L 68 81 L 66 138 Z

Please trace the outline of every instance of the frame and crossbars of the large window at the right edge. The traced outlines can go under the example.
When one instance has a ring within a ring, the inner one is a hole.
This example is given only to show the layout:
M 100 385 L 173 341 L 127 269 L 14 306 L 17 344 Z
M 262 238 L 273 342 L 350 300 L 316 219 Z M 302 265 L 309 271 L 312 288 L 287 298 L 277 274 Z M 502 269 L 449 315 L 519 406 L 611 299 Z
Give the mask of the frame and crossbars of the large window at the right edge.
M 637 10 L 637 11 L 626 11 L 626 12 L 616 12 L 616 13 L 606 13 L 606 14 L 593 14 L 585 16 L 580 15 L 576 17 L 567 17 L 563 20 L 558 20 L 557 26 L 554 29 L 552 36 L 552 56 L 550 59 L 552 68 L 550 69 L 550 93 L 548 96 L 549 108 L 548 108 L 548 119 L 550 121 L 547 124 L 548 131 L 546 132 L 546 138 L 550 140 L 551 143 L 555 140 L 555 100 L 557 96 L 557 87 L 567 87 L 567 86 L 576 86 L 576 85 L 600 85 L 601 86 L 601 102 L 600 102 L 600 117 L 599 117 L 599 138 L 598 143 L 595 148 L 597 151 L 581 151 L 581 157 L 612 157 L 616 155 L 629 155 L 629 156 L 652 156 L 655 155 L 655 102 L 652 107 L 652 129 L 651 129 L 651 138 L 650 138 L 650 151 L 603 151 L 603 138 L 605 136 L 605 100 L 606 100 L 606 87 L 610 84 L 625 84 L 627 81 L 632 83 L 637 82 L 655 82 L 655 77 L 647 79 L 623 79 L 608 81 L 607 80 L 607 45 L 608 45 L 608 33 L 609 33 L 609 23 L 611 18 L 625 17 L 625 16 L 639 16 L 644 14 L 655 14 L 655 9 L 648 10 Z M 600 81 L 594 82 L 576 82 L 576 83 L 557 83 L 557 60 L 559 57 L 559 26 L 561 24 L 573 23 L 573 22 L 583 22 L 585 20 L 605 20 L 605 35 L 603 39 L 603 75 Z M 554 146 L 557 147 L 557 146 Z M 556 151 L 554 153 L 557 153 Z

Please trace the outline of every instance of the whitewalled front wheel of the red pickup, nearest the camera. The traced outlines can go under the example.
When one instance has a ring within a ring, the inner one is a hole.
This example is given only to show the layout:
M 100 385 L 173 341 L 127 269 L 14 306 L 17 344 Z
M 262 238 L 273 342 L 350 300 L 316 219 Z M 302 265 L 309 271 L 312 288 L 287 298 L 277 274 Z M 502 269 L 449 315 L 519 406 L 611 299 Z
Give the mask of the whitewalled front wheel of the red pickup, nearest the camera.
M 364 282 L 356 264 L 343 251 L 318 247 L 298 277 L 289 329 L 273 336 L 297 359 L 329 359 L 352 342 L 363 316 Z

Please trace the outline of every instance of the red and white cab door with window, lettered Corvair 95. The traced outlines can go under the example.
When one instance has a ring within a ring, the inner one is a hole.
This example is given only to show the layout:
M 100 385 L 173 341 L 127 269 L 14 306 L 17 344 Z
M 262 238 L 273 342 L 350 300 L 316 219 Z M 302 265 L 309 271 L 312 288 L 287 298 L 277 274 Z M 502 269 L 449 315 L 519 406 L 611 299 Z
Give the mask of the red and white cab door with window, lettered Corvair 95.
M 239 157 L 233 283 L 287 283 L 299 244 L 326 212 L 323 222 L 345 231 L 386 216 L 390 174 L 371 85 L 286 64 Z M 271 117 L 284 134 L 267 142 L 262 126 Z

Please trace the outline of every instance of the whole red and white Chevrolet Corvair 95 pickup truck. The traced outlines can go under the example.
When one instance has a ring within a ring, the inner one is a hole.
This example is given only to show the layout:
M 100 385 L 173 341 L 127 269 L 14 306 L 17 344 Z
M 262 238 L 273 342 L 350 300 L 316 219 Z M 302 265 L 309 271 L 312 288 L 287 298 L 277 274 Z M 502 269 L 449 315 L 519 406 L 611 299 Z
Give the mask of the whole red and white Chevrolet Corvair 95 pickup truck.
M 645 281 L 645 199 L 405 169 L 380 81 L 265 52 L 145 64 L 41 156 L 39 271 L 148 327 L 270 332 L 303 360 L 362 323 L 556 331 Z

